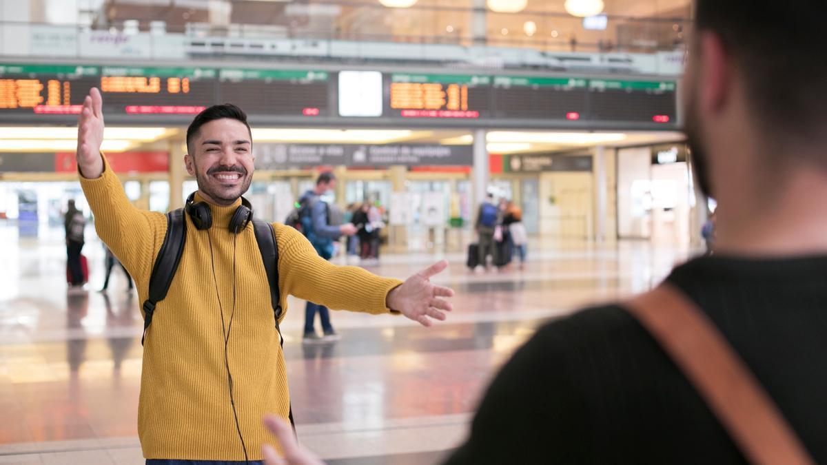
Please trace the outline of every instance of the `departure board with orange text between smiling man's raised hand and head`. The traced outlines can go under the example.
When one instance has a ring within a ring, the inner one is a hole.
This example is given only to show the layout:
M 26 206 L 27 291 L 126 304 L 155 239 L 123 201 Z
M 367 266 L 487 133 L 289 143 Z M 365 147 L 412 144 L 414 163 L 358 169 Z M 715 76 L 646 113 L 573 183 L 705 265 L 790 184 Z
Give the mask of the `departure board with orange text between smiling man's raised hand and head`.
M 103 66 L 103 112 L 195 114 L 215 102 L 216 70 Z

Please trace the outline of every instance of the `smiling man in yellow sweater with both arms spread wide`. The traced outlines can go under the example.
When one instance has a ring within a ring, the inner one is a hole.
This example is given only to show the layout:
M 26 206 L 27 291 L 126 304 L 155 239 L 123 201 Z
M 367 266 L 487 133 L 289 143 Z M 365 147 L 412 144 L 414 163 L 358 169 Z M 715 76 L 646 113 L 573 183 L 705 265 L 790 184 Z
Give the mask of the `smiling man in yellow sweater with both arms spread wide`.
M 167 219 L 134 208 L 101 154 L 102 103 L 92 89 L 79 117 L 80 183 L 98 235 L 127 267 L 143 301 Z M 243 223 L 237 233 L 229 228 L 252 180 L 251 139 L 246 115 L 233 105 L 204 110 L 187 131 L 184 162 L 198 181 L 192 204 L 203 202 L 208 214 L 184 215 L 179 267 L 146 330 L 138 434 L 148 464 L 256 463 L 262 445 L 273 442 L 264 415 L 289 414 L 280 334 L 252 224 Z M 284 310 L 286 296 L 295 295 L 332 309 L 398 312 L 430 326 L 452 309 L 444 298 L 453 291 L 429 281 L 446 268 L 445 261 L 403 283 L 334 266 L 298 231 L 273 227 Z

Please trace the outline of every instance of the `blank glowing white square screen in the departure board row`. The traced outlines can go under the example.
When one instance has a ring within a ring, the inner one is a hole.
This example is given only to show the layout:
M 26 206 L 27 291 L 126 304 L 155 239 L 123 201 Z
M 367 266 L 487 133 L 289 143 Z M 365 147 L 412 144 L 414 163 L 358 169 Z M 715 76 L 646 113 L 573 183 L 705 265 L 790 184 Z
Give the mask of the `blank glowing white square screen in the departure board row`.
M 340 72 L 339 115 L 343 117 L 382 116 L 382 73 L 379 71 Z

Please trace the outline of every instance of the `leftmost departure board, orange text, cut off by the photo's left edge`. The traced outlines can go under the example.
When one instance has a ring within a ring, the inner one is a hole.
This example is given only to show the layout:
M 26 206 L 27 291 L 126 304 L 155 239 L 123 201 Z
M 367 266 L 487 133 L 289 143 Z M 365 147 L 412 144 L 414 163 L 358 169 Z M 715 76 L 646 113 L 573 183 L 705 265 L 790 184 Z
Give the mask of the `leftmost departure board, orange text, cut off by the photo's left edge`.
M 0 65 L 0 113 L 80 113 L 98 73 L 94 66 Z

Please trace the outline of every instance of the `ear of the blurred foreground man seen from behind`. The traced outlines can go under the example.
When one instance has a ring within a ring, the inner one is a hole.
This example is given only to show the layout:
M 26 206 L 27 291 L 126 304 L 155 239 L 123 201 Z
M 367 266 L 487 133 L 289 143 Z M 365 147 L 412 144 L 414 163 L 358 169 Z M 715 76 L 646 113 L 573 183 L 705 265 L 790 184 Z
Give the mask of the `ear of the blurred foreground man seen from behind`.
M 724 108 L 733 89 L 733 61 L 724 41 L 712 31 L 700 37 L 700 105 L 704 113 L 718 113 Z

